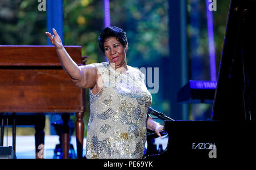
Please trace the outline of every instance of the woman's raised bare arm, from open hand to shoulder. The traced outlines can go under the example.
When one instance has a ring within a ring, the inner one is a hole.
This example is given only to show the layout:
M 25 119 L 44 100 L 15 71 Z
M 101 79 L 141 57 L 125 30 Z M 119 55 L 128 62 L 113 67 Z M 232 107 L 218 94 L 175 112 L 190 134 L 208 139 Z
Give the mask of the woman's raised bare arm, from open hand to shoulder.
M 97 69 L 93 65 L 77 66 L 76 62 L 69 56 L 65 50 L 60 36 L 57 31 L 52 29 L 54 35 L 46 32 L 51 43 L 55 46 L 56 52 L 60 58 L 61 65 L 64 71 L 71 77 L 73 83 L 80 88 L 92 88 L 96 84 Z

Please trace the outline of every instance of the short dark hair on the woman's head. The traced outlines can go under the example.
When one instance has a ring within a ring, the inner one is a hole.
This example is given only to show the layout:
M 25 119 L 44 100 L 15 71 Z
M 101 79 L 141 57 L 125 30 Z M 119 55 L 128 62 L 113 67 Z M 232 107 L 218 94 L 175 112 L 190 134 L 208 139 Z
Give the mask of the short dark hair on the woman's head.
M 100 37 L 98 37 L 98 46 L 103 53 L 105 53 L 104 42 L 109 37 L 117 37 L 118 41 L 121 42 L 123 47 L 125 47 L 127 44 L 126 32 L 124 32 L 123 29 L 115 26 L 106 27 L 101 31 Z

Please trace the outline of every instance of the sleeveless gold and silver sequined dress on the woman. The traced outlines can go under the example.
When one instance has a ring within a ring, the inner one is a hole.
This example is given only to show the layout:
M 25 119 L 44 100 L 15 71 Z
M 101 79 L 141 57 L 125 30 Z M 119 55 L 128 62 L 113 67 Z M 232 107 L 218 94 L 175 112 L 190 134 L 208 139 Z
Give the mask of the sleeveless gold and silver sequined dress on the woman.
M 86 158 L 142 158 L 146 142 L 146 119 L 152 96 L 144 74 L 127 66 L 127 74 L 108 62 L 94 63 L 104 85 L 90 91 L 90 118 L 86 137 Z

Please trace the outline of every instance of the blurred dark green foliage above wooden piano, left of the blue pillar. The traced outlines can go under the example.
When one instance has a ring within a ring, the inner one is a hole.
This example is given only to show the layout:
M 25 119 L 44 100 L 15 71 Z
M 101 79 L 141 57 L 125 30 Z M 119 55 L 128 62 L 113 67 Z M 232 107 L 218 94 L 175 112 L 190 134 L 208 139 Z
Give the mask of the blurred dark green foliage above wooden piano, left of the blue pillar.
M 46 12 L 34 0 L 0 1 L 0 45 L 46 45 Z

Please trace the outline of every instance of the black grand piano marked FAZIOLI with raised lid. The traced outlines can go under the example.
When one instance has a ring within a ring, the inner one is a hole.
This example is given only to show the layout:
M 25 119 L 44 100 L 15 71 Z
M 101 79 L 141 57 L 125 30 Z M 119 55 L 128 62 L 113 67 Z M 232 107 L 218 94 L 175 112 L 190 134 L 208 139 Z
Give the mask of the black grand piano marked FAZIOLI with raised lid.
M 255 0 L 230 0 L 212 120 L 164 121 L 168 145 L 145 158 L 255 158 L 255 22 Z M 148 143 L 158 141 L 153 135 Z

